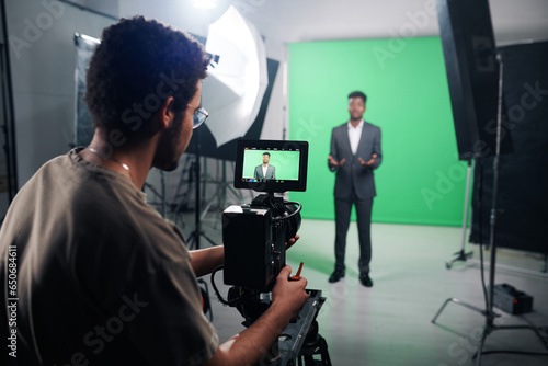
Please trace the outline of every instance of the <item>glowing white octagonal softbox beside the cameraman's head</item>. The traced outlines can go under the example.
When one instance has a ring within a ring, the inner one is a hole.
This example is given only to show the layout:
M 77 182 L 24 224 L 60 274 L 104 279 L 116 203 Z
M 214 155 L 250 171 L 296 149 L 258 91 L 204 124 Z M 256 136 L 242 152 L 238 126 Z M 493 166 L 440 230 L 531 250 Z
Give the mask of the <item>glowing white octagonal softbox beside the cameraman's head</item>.
M 217 147 L 246 135 L 269 85 L 264 43 L 232 5 L 208 27 L 206 50 L 215 55 L 202 88 L 207 127 Z

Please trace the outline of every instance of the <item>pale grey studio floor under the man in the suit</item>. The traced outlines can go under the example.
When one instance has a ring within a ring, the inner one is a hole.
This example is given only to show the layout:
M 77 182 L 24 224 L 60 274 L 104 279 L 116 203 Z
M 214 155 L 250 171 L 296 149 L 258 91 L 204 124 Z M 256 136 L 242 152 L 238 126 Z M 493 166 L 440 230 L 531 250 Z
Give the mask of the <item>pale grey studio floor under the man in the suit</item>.
M 220 229 L 203 225 L 204 231 L 219 242 Z M 331 362 L 349 365 L 475 365 L 473 355 L 486 322 L 479 311 L 449 302 L 436 323 L 432 319 L 448 298 L 457 298 L 486 309 L 477 245 L 472 260 L 445 263 L 461 248 L 460 228 L 374 224 L 372 228 L 373 288 L 359 284 L 357 272 L 357 230 L 351 224 L 346 250 L 346 276 L 329 284 L 333 270 L 334 224 L 304 220 L 301 239 L 287 252 L 287 262 L 301 275 L 308 288 L 320 289 L 326 302 L 318 313 L 319 333 L 326 339 Z M 206 247 L 201 240 L 202 248 Z M 486 251 L 489 261 L 489 251 Z M 534 297 L 534 311 L 511 316 L 498 308 L 495 325 L 540 328 L 548 344 L 548 276 L 546 258 L 499 249 L 495 284 L 509 284 Z M 530 273 L 529 273 L 530 272 Z M 486 266 L 489 284 L 489 266 Z M 204 278 L 209 284 L 210 278 Z M 228 287 L 216 276 L 220 293 Z M 220 341 L 243 330 L 240 313 L 222 306 L 210 290 L 213 323 Z M 489 334 L 481 365 L 548 365 L 548 348 L 529 329 L 500 329 Z M 512 353 L 509 353 L 512 352 Z M 535 355 L 536 354 L 536 355 Z M 544 355 L 540 355 L 544 354 Z M 319 357 L 317 357 L 319 358 Z

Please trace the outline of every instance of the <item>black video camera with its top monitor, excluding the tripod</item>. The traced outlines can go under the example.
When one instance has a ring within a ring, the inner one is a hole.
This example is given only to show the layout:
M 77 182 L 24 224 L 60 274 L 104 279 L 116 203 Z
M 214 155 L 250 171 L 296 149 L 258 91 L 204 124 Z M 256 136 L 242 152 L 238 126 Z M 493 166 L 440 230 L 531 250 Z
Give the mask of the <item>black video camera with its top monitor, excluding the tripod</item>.
M 285 243 L 300 228 L 301 208 L 274 193 L 306 191 L 307 165 L 306 141 L 237 141 L 235 187 L 265 193 L 251 205 L 232 205 L 222 214 L 226 285 L 272 289 L 286 264 Z

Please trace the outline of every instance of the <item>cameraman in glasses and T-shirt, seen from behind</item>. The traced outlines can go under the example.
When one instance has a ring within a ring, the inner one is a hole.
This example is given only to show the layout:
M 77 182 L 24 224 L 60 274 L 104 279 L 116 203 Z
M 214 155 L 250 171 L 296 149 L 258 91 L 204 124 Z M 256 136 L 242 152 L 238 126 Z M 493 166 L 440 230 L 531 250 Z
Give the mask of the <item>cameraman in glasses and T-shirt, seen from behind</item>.
M 18 335 L 10 361 L 249 365 L 306 302 L 306 279 L 289 282 L 285 267 L 266 312 L 219 345 L 196 277 L 222 264 L 224 248 L 189 252 L 176 227 L 146 204 L 150 168 L 174 170 L 207 116 L 199 107 L 207 65 L 197 42 L 156 21 L 104 30 L 87 76 L 93 140 L 45 163 L 0 231 L 2 284 L 12 252 L 18 265 L 16 294 L 1 295 L 8 306 L 19 298 L 16 328 L 2 319 L 2 340 L 7 330 Z

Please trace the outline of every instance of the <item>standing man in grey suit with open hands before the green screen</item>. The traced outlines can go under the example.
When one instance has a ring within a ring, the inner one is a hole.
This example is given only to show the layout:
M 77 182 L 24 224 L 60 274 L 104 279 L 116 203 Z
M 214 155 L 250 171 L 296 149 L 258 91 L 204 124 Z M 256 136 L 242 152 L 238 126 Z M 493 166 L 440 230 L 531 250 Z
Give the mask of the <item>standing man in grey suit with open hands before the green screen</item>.
M 328 165 L 335 178 L 335 270 L 330 283 L 344 277 L 346 232 L 352 205 L 356 206 L 359 238 L 359 282 L 373 286 L 369 277 L 372 259 L 370 221 L 373 197 L 376 195 L 373 171 L 380 165 L 380 128 L 363 119 L 366 95 L 359 91 L 350 93 L 350 121 L 333 128 L 331 153 Z

